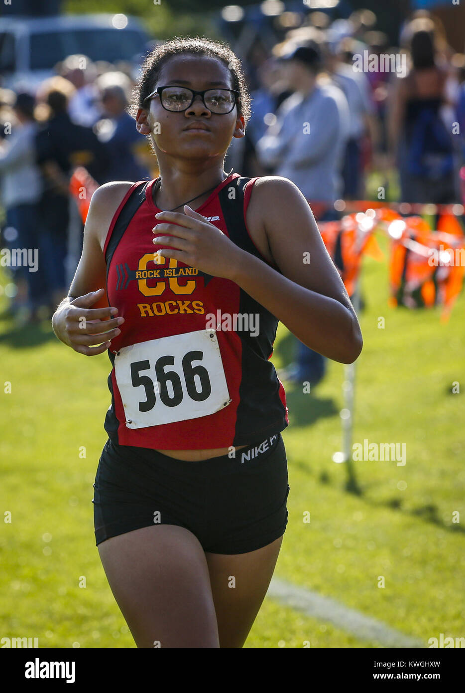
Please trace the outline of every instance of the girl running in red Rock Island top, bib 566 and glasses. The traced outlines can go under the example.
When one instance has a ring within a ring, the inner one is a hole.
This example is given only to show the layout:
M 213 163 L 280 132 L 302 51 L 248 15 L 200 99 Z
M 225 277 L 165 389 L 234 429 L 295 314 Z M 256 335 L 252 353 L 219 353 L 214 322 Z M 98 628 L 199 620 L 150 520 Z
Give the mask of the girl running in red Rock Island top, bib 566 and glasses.
M 149 55 L 136 118 L 161 175 L 98 188 L 53 316 L 78 353 L 108 349 L 95 538 L 138 647 L 240 648 L 262 604 L 289 493 L 277 321 L 341 363 L 362 349 L 302 193 L 224 172 L 249 113 L 226 45 L 174 39 Z

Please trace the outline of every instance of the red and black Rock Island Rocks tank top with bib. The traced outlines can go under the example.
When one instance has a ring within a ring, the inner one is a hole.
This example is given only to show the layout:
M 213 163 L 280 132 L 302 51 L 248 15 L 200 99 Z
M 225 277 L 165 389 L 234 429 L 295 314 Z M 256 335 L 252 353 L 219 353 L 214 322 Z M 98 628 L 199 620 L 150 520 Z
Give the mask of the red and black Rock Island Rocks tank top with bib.
M 196 211 L 269 264 L 246 227 L 255 180 L 230 174 Z M 226 448 L 275 435 L 289 425 L 269 360 L 278 321 L 230 279 L 174 258 L 157 261 L 155 182 L 129 188 L 104 244 L 109 304 L 125 318 L 108 349 L 104 428 L 120 445 L 159 450 Z

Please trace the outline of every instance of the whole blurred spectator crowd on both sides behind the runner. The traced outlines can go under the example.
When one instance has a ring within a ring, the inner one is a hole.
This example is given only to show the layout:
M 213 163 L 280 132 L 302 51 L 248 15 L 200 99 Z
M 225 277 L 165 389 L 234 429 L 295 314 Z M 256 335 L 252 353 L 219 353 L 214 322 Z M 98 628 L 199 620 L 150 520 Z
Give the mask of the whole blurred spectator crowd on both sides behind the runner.
M 340 200 L 463 202 L 465 55 L 441 22 L 415 12 L 399 45 L 358 10 L 303 26 L 241 54 L 252 98 L 246 137 L 233 138 L 225 170 L 291 179 L 318 220 L 337 220 Z M 0 89 L 2 247 L 38 248 L 37 272 L 12 267 L 12 310 L 54 310 L 80 256 L 82 222 L 69 181 L 84 166 L 98 184 L 158 175 L 149 141 L 127 105 L 134 71 L 70 55 L 35 94 Z M 462 183 L 463 182 L 463 183 Z M 74 236 L 70 233 L 70 228 Z M 71 257 L 72 238 L 78 238 Z M 325 360 L 301 345 L 298 379 L 318 382 Z M 290 374 L 288 374 L 290 375 Z

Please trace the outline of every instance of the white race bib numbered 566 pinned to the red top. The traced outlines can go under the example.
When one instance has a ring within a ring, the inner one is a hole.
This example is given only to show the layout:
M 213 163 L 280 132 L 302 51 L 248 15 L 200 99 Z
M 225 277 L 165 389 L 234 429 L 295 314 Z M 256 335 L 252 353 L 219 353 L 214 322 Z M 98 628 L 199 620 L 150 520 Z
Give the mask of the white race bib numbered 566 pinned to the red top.
M 127 428 L 198 419 L 231 401 L 212 329 L 122 347 L 115 376 Z

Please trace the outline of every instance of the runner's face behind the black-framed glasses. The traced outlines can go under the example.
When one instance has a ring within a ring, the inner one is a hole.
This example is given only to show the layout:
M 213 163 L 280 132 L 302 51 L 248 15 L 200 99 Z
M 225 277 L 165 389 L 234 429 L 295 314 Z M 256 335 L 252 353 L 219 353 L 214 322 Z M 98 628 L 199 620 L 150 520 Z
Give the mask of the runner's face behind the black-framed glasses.
M 175 55 L 164 65 L 156 87 L 179 85 L 203 89 L 233 89 L 230 71 L 216 58 Z M 147 106 L 148 107 L 148 106 Z M 205 159 L 224 155 L 233 137 L 244 137 L 244 118 L 237 115 L 237 105 L 230 113 L 212 113 L 199 95 L 188 109 L 167 111 L 159 96 L 149 102 L 149 125 L 154 149 L 188 159 Z M 208 130 L 186 130 L 193 121 L 201 121 Z

